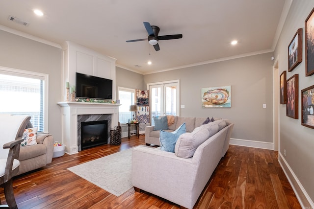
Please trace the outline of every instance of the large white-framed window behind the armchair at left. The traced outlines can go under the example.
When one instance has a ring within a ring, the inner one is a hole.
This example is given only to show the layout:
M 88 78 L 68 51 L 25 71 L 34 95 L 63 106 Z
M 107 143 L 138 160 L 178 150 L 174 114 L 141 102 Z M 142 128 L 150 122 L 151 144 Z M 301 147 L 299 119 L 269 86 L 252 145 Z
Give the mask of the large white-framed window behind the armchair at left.
M 0 67 L 0 114 L 31 116 L 38 132 L 48 132 L 48 75 Z

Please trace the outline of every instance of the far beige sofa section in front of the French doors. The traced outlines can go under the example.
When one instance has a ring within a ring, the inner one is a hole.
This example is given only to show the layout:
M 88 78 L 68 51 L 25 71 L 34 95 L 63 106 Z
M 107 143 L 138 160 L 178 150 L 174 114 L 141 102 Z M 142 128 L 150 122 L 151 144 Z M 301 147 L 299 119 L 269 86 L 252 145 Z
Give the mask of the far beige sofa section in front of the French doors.
M 215 120 L 218 120 L 221 118 L 215 118 Z M 175 116 L 175 122 L 174 124 L 170 125 L 168 127 L 168 132 L 173 132 L 177 128 L 179 128 L 180 125 L 182 125 L 185 122 L 186 132 L 192 132 L 194 128 L 199 127 L 202 125 L 202 123 L 206 120 L 206 117 L 180 117 Z M 159 133 L 160 130 L 155 130 L 155 126 L 146 126 L 145 127 L 145 143 L 146 145 L 154 144 L 160 146 L 159 141 Z

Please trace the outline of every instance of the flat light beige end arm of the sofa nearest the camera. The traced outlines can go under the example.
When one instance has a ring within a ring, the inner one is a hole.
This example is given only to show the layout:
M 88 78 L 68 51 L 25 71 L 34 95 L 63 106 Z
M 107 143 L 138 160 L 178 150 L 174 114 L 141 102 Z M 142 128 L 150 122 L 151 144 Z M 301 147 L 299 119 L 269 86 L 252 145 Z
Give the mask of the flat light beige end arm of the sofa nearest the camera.
M 132 186 L 186 208 L 191 208 L 196 170 L 191 158 L 145 146 L 132 150 Z

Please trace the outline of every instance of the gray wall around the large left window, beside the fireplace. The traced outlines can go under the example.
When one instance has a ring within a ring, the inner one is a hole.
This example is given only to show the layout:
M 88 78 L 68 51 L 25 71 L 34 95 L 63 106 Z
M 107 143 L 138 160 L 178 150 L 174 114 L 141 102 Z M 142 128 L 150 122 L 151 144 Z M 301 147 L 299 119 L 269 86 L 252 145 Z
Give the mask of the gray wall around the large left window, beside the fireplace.
M 56 103 L 59 102 L 61 94 L 61 49 L 2 30 L 0 47 L 0 66 L 49 74 L 48 130 L 54 140 L 60 141 L 61 111 Z

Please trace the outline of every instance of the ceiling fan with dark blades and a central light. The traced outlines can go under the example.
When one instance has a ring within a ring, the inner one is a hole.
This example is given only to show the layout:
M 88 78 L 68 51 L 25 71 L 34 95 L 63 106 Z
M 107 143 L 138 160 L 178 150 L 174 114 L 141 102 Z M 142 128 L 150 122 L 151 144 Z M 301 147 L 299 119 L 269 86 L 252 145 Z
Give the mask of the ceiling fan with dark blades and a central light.
M 144 26 L 148 32 L 147 39 L 135 39 L 129 40 L 127 42 L 138 42 L 138 41 L 147 41 L 150 45 L 153 45 L 156 51 L 159 51 L 158 40 L 170 40 L 170 39 L 182 39 L 182 34 L 175 34 L 175 35 L 165 35 L 165 36 L 158 36 L 159 27 L 156 25 L 151 25 L 148 22 L 143 22 Z

